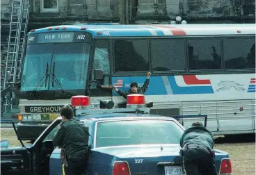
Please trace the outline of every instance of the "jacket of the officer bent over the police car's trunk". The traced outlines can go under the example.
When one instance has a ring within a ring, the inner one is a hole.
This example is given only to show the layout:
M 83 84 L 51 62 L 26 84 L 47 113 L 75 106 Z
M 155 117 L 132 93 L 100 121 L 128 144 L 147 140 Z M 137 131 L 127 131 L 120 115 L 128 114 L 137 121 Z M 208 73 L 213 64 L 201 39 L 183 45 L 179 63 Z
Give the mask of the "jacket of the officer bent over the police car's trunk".
M 213 149 L 214 136 L 204 126 L 191 126 L 184 131 L 179 144 L 180 147 L 184 147 L 185 144 L 202 144 Z

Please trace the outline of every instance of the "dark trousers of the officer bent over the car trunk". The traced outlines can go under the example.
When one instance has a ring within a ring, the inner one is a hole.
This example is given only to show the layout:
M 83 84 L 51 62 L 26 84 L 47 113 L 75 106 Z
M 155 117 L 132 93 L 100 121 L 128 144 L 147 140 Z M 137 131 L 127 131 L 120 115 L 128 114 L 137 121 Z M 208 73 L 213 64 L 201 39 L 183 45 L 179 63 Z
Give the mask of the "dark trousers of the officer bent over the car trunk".
M 186 175 L 217 175 L 214 156 L 204 146 L 185 148 L 183 166 Z

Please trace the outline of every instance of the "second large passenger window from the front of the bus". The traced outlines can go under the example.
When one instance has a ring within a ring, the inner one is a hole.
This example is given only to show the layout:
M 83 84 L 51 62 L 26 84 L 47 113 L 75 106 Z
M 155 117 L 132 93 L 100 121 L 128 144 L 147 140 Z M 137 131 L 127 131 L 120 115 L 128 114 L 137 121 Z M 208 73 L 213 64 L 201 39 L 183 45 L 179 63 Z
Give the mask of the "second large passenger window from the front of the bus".
M 153 71 L 182 71 L 185 69 L 184 40 L 151 40 L 150 54 Z

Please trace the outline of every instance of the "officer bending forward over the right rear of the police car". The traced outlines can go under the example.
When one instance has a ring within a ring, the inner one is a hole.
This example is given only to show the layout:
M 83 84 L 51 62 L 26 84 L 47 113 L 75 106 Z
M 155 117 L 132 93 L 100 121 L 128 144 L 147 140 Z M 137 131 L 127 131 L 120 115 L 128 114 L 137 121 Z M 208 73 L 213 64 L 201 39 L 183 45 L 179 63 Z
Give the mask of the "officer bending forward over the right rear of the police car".
M 214 136 L 201 122 L 193 123 L 184 131 L 180 146 L 186 175 L 217 175 L 213 151 Z

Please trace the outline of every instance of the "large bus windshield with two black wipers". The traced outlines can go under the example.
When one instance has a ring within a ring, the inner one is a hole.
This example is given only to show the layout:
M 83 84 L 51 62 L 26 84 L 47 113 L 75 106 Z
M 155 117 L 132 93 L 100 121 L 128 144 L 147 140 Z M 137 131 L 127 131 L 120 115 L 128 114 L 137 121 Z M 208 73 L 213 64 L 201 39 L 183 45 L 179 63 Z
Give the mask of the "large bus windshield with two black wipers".
M 29 44 L 24 59 L 21 90 L 31 91 L 36 86 L 37 90 L 58 90 L 58 85 L 54 83 L 53 86 L 51 83 L 53 75 L 63 90 L 83 89 L 89 53 L 88 43 Z M 49 76 L 45 76 L 46 72 Z

